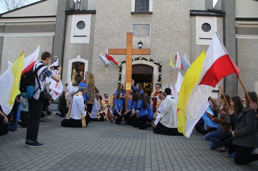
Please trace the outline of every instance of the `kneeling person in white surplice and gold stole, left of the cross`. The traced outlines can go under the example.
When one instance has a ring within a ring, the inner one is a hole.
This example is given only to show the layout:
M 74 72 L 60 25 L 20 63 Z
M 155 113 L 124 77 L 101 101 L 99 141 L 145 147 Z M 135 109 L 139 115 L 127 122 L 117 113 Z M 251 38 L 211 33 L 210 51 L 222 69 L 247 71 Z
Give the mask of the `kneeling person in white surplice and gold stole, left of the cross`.
M 83 94 L 87 92 L 85 87 L 73 96 L 66 118 L 61 122 L 62 127 L 87 127 L 90 114 L 84 111 Z

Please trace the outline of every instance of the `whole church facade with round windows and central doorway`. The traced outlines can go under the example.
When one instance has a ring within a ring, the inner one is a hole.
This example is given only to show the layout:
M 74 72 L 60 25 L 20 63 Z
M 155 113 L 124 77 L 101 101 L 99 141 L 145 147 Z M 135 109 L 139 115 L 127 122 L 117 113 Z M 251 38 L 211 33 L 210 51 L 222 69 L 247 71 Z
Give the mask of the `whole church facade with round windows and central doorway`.
M 25 56 L 40 45 L 40 53 L 59 58 L 62 82 L 89 72 L 101 94 L 112 95 L 118 83 L 125 83 L 126 55 L 114 55 L 105 66 L 98 53 L 105 49 L 126 48 L 126 35 L 132 32 L 132 46 L 149 48 L 150 55 L 132 56 L 132 78 L 151 92 L 156 83 L 175 85 L 178 72 L 168 64 L 171 54 L 187 55 L 192 63 L 218 32 L 226 49 L 241 71 L 248 90 L 258 90 L 258 1 L 219 0 L 41 0 L 0 14 L 0 74 L 22 50 Z M 242 96 L 244 91 L 235 75 L 221 81 L 226 93 Z M 150 95 L 150 94 L 149 94 Z M 217 91 L 213 97 L 216 98 Z

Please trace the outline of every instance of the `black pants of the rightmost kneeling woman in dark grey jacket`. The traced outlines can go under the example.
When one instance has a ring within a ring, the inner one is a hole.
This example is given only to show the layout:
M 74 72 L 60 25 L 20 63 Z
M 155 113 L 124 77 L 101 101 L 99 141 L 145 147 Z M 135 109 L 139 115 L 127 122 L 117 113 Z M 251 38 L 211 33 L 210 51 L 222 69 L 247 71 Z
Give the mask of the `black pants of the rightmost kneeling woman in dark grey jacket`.
M 258 160 L 258 154 L 251 154 L 252 147 L 237 146 L 237 153 L 235 156 L 235 163 L 237 165 L 244 165 Z

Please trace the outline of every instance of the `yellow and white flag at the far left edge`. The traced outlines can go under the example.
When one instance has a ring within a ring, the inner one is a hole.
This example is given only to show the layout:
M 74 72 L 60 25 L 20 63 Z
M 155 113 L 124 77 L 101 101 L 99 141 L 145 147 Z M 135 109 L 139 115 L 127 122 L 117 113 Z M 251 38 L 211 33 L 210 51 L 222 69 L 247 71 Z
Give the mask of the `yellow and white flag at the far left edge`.
M 21 52 L 11 67 L 0 76 L 0 105 L 5 115 L 10 113 L 16 96 L 20 94 L 19 84 L 23 62 L 24 51 Z

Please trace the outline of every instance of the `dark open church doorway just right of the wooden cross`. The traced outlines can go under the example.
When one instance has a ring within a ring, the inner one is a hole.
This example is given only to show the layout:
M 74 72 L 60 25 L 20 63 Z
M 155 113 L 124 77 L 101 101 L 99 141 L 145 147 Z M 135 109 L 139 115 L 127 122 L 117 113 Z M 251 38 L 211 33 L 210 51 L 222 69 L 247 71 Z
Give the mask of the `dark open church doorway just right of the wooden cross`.
M 143 91 L 150 96 L 152 92 L 153 67 L 139 64 L 133 65 L 131 78 L 135 82 L 134 85 L 140 83 Z

